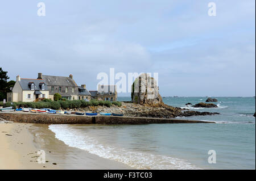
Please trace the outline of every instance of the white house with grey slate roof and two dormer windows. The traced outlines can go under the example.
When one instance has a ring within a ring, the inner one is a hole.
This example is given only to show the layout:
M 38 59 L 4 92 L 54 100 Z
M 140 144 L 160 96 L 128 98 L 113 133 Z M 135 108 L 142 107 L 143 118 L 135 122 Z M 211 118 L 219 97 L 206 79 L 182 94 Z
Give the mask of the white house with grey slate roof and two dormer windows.
M 36 99 L 49 98 L 49 91 L 43 79 L 16 77 L 12 92 L 7 93 L 10 102 L 34 102 Z

